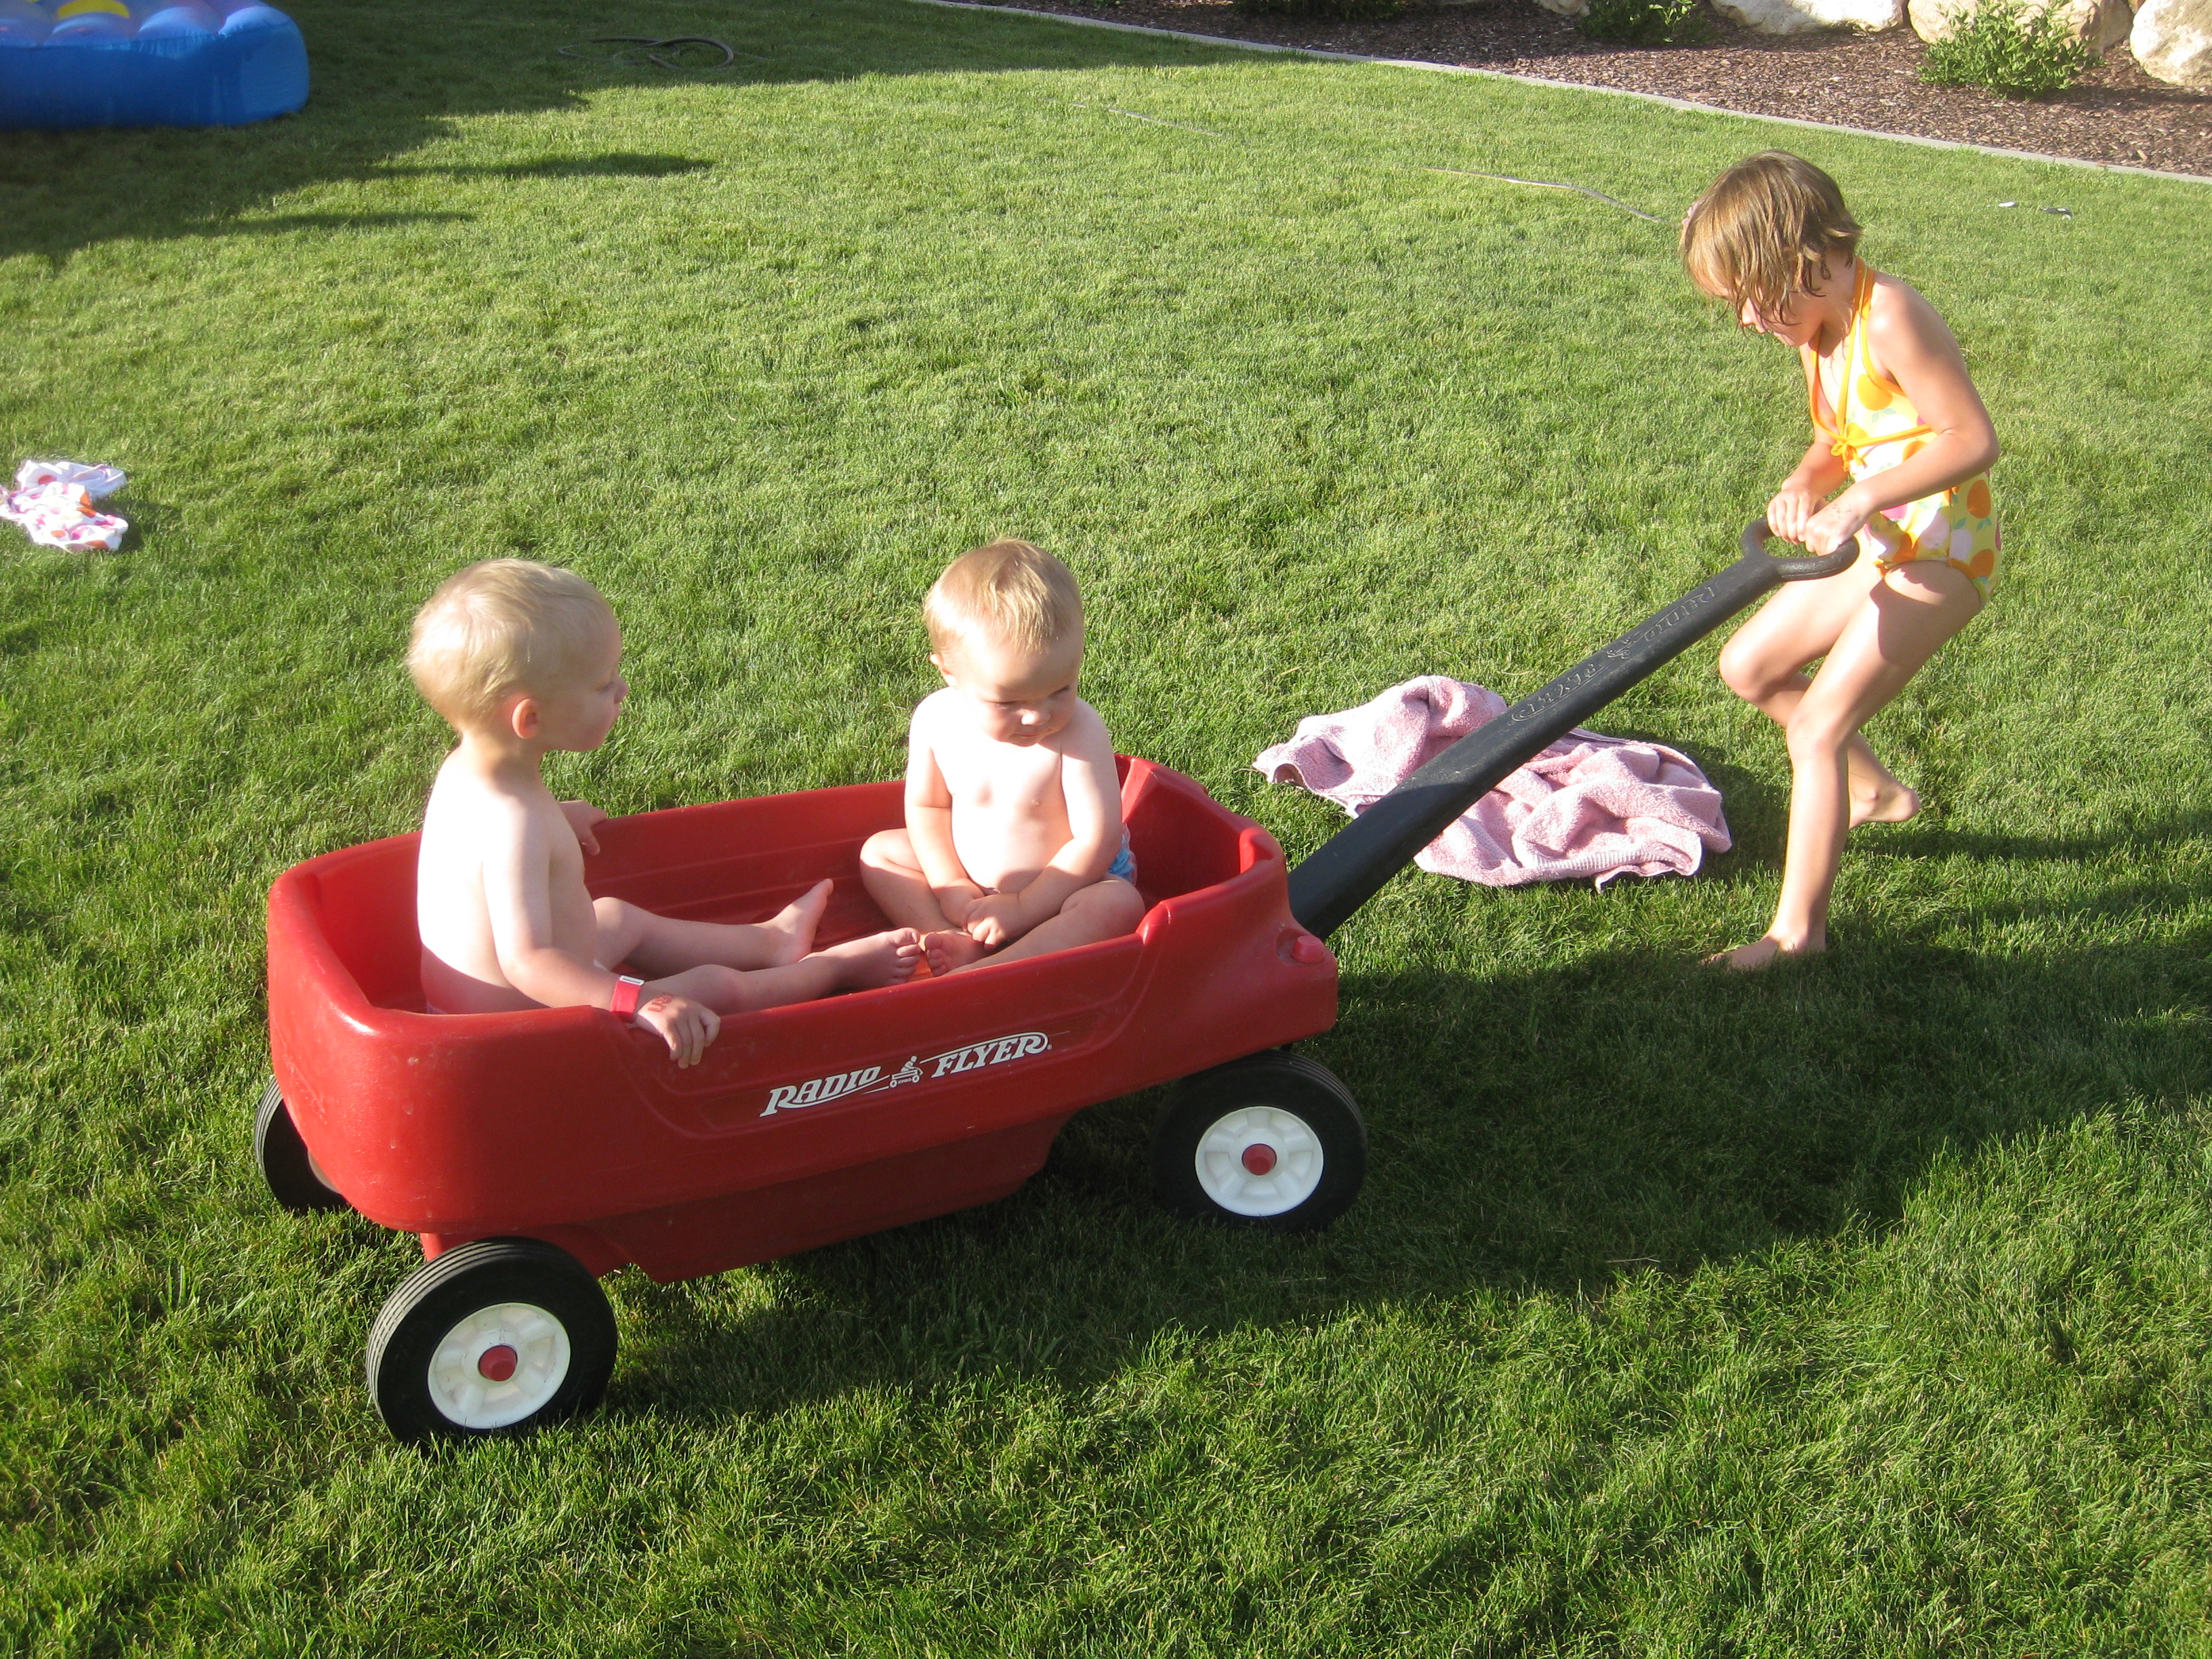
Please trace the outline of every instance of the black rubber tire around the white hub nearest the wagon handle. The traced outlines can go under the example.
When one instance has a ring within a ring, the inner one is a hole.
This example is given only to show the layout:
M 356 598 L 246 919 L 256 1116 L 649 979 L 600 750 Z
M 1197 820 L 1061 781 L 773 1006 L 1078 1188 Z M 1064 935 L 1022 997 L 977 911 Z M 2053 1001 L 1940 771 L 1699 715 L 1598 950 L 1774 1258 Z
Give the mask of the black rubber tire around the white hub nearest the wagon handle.
M 1290 1113 L 1321 1144 L 1321 1179 L 1314 1190 L 1274 1214 L 1228 1210 L 1199 1179 L 1199 1144 L 1208 1130 L 1250 1106 Z M 1358 1102 L 1336 1073 L 1287 1048 L 1245 1055 L 1186 1077 L 1175 1086 L 1152 1130 L 1152 1186 L 1159 1190 L 1159 1201 L 1192 1221 L 1314 1232 L 1352 1208 L 1365 1179 L 1367 1124 L 1360 1119 Z

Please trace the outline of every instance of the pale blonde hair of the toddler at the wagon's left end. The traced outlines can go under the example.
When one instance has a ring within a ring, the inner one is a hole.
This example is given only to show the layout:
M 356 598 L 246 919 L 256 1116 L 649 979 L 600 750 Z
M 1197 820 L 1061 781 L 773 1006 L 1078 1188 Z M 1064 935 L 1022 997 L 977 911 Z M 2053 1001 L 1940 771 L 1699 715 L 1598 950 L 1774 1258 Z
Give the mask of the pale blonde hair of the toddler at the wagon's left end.
M 515 692 L 551 692 L 588 672 L 613 626 L 613 608 L 575 571 L 484 560 L 416 611 L 407 672 L 447 721 L 480 726 Z

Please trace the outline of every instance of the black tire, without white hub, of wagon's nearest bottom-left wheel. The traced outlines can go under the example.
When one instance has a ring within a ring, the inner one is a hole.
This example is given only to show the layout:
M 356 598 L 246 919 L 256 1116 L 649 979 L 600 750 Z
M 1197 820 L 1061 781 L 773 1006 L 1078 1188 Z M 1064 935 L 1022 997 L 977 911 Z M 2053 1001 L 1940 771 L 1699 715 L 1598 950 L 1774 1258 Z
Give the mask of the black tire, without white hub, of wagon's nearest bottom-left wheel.
M 568 1338 L 568 1367 L 529 1416 L 471 1427 L 447 1416 L 431 1389 L 431 1363 L 447 1334 L 471 1314 L 526 1303 Z M 615 1310 L 584 1263 L 538 1239 L 478 1239 L 422 1263 L 392 1292 L 369 1329 L 369 1398 L 400 1440 L 478 1440 L 526 1433 L 591 1411 L 615 1374 Z

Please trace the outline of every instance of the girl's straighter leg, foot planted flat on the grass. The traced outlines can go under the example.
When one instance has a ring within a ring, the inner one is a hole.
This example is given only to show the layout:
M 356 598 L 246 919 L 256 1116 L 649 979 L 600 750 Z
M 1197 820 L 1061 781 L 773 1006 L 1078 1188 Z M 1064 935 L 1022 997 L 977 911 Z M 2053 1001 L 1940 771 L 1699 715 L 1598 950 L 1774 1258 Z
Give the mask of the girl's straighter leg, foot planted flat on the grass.
M 1712 960 L 1754 969 L 1827 949 L 1827 900 L 1851 827 L 1851 737 L 1980 608 L 1973 582 L 1944 564 L 1907 564 L 1874 584 L 1790 712 L 1790 849 L 1774 922 Z

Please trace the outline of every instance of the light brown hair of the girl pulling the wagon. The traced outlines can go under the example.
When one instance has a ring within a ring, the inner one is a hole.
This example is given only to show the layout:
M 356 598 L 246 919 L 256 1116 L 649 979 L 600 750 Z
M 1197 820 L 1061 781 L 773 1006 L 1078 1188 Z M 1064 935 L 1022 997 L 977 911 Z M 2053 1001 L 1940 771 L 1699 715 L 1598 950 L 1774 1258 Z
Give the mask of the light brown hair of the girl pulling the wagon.
M 1843 190 L 1790 150 L 1761 150 L 1728 168 L 1681 221 L 1681 263 L 1714 299 L 1750 301 L 1763 319 L 1790 294 L 1827 276 L 1832 259 L 1858 252 L 1858 219 Z

